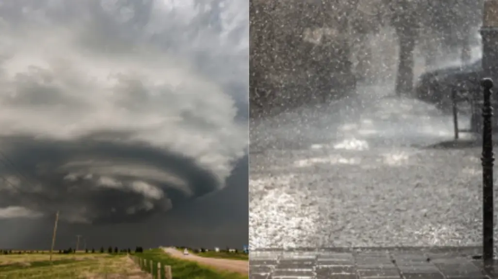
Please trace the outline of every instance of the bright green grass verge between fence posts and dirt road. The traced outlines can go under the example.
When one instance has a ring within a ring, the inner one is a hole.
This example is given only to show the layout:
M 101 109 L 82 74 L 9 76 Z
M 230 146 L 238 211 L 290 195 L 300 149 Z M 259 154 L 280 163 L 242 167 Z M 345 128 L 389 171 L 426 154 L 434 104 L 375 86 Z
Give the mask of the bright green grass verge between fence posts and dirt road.
M 161 249 L 152 249 L 143 251 L 136 256 L 160 262 L 161 264 L 171 266 L 171 272 L 174 279 L 248 279 L 248 275 L 241 275 L 233 272 L 220 272 L 209 267 L 200 266 L 191 261 L 185 261 L 173 258 L 164 253 Z

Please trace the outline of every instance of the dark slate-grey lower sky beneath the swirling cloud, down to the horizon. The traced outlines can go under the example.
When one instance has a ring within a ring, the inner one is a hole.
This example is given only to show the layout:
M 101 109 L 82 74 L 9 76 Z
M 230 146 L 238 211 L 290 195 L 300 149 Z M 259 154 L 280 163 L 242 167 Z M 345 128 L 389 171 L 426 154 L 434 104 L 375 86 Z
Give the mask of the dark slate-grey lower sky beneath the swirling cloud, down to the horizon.
M 109 245 L 242 248 L 249 238 L 248 164 L 248 155 L 245 155 L 227 179 L 227 187 L 195 202 L 178 203 L 167 214 L 156 214 L 139 222 L 102 223 L 98 226 L 60 222 L 56 250 L 75 247 L 77 234 L 83 235 L 90 249 Z M 15 211 L 11 210 L 12 213 Z M 54 217 L 0 220 L 0 226 L 5 228 L 0 231 L 0 247 L 50 249 Z

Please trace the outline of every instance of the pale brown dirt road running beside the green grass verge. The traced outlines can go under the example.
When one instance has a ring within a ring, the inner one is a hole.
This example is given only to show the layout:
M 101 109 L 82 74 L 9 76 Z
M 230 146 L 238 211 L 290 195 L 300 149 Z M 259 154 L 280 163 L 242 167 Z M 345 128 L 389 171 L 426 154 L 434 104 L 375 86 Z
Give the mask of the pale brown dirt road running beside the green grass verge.
M 194 261 L 201 265 L 210 266 L 218 270 L 237 272 L 241 274 L 249 274 L 249 261 L 204 258 L 192 254 L 185 256 L 183 255 L 182 252 L 174 248 L 162 248 L 162 249 L 164 250 L 164 252 L 176 258 Z

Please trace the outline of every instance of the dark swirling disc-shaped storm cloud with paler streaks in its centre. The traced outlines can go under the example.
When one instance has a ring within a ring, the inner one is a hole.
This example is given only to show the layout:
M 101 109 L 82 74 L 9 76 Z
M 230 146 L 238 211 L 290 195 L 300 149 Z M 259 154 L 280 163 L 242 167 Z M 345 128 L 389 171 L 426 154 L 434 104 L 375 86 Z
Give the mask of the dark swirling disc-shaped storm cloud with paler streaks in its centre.
M 143 219 L 170 209 L 171 199 L 200 197 L 220 183 L 193 158 L 145 144 L 97 136 L 72 141 L 12 138 L 2 143 L 26 178 L 4 173 L 7 183 L 0 207 L 61 210 L 61 217 L 73 222 Z

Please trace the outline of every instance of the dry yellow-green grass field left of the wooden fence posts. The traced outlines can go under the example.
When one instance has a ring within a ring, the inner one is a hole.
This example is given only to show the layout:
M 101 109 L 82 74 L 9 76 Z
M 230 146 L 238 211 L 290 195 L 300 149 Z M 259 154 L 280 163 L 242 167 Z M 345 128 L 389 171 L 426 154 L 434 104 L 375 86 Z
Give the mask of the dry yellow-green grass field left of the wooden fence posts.
M 148 279 L 126 255 L 45 254 L 0 255 L 0 279 Z

